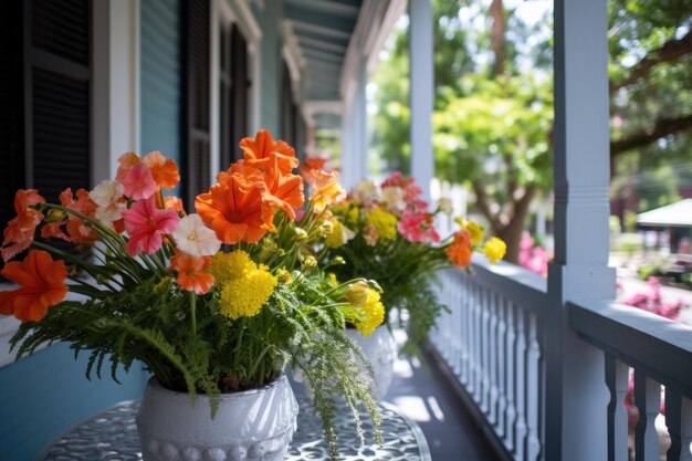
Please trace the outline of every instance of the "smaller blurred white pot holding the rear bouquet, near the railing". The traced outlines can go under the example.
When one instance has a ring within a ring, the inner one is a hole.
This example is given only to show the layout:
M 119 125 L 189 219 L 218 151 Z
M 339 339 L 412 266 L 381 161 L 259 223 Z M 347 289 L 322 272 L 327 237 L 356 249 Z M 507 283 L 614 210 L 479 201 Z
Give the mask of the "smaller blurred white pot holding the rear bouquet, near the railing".
M 346 329 L 346 335 L 360 346 L 373 365 L 373 371 L 375 371 L 373 394 L 381 400 L 391 386 L 394 360 L 397 358 L 397 345 L 391 332 L 387 326 L 380 325 L 368 336 L 363 336 L 355 328 Z

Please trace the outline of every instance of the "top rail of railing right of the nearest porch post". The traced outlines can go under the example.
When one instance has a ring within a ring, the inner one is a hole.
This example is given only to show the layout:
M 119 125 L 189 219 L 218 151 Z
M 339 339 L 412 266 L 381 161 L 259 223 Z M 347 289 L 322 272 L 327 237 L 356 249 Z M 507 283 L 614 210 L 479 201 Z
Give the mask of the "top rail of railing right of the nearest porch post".
M 605 301 L 567 308 L 569 325 L 586 340 L 692 398 L 692 327 Z

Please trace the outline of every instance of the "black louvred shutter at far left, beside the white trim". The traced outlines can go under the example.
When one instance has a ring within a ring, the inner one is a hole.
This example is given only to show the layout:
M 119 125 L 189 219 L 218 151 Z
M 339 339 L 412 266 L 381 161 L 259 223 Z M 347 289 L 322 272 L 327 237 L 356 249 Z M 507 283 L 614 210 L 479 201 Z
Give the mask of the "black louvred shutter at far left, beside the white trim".
M 56 201 L 66 187 L 91 186 L 91 8 L 88 0 L 32 0 L 24 8 L 31 186 Z

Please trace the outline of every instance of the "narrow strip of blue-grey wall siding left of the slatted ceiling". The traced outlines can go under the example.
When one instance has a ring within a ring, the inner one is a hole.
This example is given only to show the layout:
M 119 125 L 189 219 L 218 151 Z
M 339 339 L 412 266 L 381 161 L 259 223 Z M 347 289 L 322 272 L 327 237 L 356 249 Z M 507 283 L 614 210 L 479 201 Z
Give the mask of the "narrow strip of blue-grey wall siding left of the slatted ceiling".
M 279 137 L 281 128 L 281 23 L 283 1 L 266 2 L 264 9 L 253 3 L 254 17 L 262 30 L 260 43 L 260 128 L 269 129 Z M 250 134 L 254 136 L 254 133 Z

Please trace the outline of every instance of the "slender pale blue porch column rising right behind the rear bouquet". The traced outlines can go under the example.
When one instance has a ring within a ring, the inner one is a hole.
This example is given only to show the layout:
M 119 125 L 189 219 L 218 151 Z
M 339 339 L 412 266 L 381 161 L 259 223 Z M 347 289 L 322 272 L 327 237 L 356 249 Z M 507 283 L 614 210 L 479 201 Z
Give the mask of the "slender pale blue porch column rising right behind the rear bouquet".
M 410 99 L 411 99 L 411 176 L 430 199 L 434 176 L 432 156 L 432 106 L 434 71 L 432 66 L 432 6 L 430 0 L 409 1 Z

